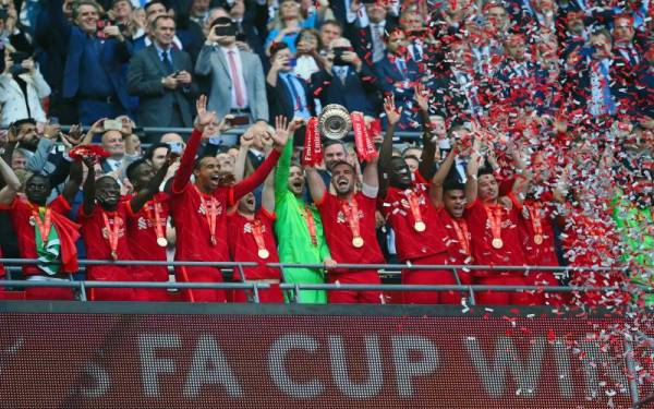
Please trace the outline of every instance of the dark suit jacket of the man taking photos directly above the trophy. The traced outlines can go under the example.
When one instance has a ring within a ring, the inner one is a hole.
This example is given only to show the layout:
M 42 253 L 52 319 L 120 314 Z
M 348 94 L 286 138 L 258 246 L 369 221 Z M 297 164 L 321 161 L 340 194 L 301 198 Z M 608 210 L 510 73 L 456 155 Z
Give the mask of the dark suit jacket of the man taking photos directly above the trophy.
M 366 64 L 362 64 L 361 72 L 353 67 L 348 67 L 344 84 L 334 73 L 320 70 L 311 76 L 312 94 L 320 99 L 323 107 L 338 104 L 348 108 L 350 112 L 361 111 L 367 116 L 376 117 L 368 94 L 374 93 L 375 77 Z

